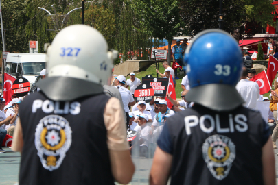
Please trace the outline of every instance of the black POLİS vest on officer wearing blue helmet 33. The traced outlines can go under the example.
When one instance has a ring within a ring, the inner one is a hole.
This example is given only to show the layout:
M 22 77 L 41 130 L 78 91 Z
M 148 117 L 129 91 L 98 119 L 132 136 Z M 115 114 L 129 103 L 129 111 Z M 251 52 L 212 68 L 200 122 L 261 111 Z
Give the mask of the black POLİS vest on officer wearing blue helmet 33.
M 196 104 L 171 116 L 165 125 L 173 156 L 171 184 L 264 184 L 266 126 L 259 112 L 242 106 L 215 112 Z

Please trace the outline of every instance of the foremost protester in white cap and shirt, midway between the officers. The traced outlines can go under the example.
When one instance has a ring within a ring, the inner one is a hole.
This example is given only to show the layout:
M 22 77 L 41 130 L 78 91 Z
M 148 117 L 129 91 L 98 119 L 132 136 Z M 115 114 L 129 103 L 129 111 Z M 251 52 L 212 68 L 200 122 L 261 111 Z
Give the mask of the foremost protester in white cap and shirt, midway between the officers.
M 139 117 L 138 125 L 141 127 L 141 131 L 139 134 L 139 140 L 137 143 L 134 143 L 130 147 L 130 151 L 132 148 L 139 146 L 139 154 L 140 156 L 148 158 L 149 156 L 149 145 L 152 143 L 152 129 L 149 125 L 147 125 L 148 115 L 147 114 L 140 114 L 137 115 Z

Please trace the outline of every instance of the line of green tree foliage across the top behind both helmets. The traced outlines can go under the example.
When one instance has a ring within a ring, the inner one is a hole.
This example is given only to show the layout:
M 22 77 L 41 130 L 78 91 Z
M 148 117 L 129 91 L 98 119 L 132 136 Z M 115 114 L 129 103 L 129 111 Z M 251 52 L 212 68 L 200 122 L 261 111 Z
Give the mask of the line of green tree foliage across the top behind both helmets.
M 131 55 L 137 59 L 148 59 L 150 49 L 159 45 L 159 39 L 172 40 L 173 36 L 194 35 L 203 29 L 218 28 L 218 2 L 104 0 L 100 5 L 87 1 L 84 3 L 84 21 L 104 35 L 108 46 L 121 53 L 121 60 Z M 223 2 L 224 29 L 235 34 L 238 29 L 239 38 L 243 34 L 253 36 L 254 27 L 260 29 L 266 23 L 273 24 L 270 12 L 274 6 L 271 1 Z M 82 23 L 82 10 L 76 10 L 65 18 L 67 12 L 82 6 L 80 0 L 5 0 L 1 5 L 7 51 L 10 52 L 27 52 L 28 41 L 38 40 L 38 51 L 43 53 L 44 43 L 51 42 L 60 29 Z M 54 16 L 38 7 L 49 10 Z M 55 32 L 46 29 L 54 29 Z

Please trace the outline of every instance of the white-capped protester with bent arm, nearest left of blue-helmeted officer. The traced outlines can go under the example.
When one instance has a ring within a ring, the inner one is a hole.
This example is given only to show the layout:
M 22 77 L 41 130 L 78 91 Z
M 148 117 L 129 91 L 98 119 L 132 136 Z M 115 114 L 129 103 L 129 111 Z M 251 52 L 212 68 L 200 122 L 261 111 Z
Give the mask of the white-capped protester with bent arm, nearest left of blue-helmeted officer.
M 159 103 L 157 103 L 157 106 L 159 107 L 159 113 L 154 117 L 154 121 L 152 121 L 152 130 L 155 130 L 158 126 L 165 124 L 163 116 L 166 114 L 170 114 L 170 116 L 175 114 L 173 110 L 167 108 L 167 101 L 164 99 L 161 99 Z

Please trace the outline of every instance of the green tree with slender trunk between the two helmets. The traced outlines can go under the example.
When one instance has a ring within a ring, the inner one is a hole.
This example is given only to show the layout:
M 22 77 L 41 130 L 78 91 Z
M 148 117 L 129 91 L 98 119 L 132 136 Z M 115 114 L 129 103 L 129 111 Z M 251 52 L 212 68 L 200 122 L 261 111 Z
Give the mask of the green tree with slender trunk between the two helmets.
M 184 21 L 181 19 L 179 2 L 176 0 L 132 0 L 130 3 L 141 18 L 143 32 L 154 38 L 168 40 L 170 64 L 172 38 L 186 32 Z

